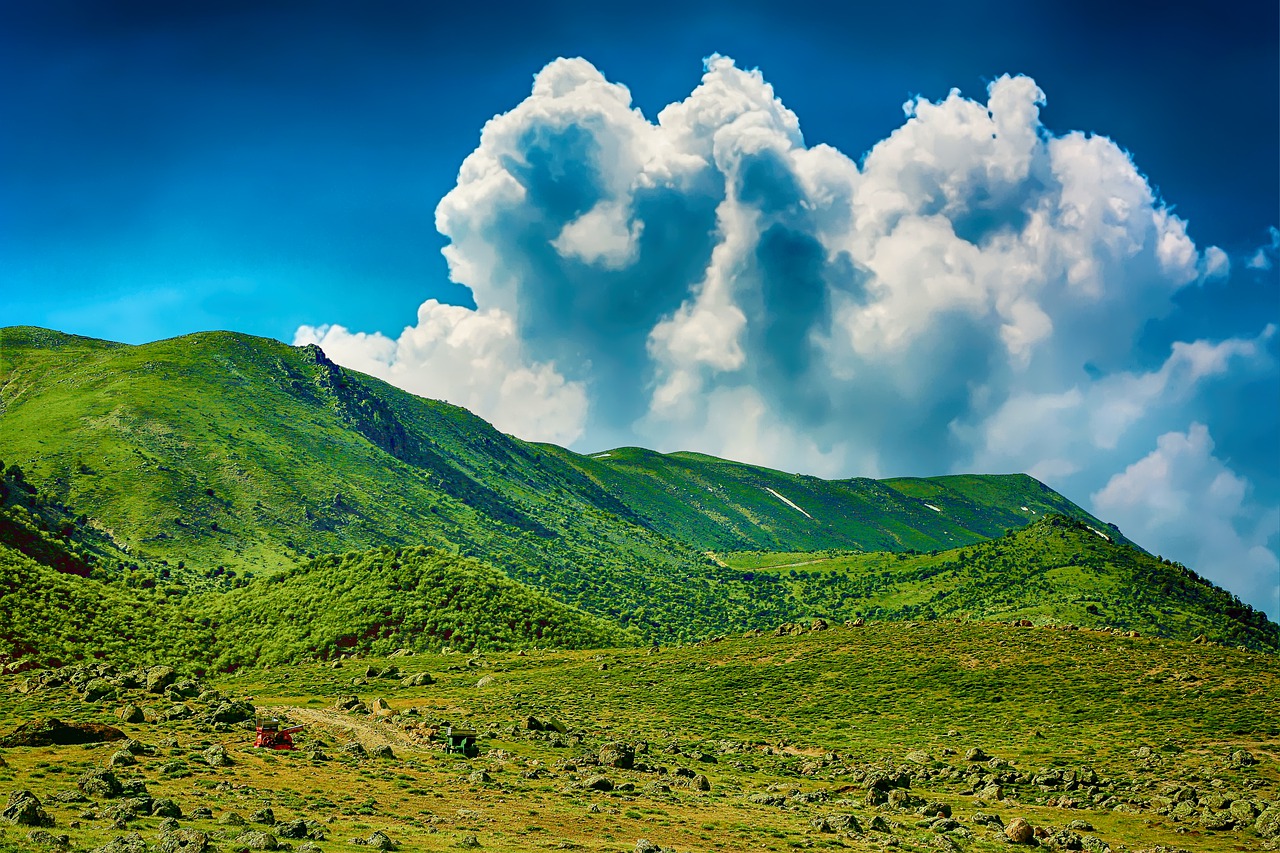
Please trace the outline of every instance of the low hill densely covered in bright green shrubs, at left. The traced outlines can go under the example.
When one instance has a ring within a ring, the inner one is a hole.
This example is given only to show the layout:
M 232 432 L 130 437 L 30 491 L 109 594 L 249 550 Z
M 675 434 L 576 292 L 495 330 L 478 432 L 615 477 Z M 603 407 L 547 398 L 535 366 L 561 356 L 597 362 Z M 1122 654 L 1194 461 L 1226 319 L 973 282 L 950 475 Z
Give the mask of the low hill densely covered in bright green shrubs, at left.
M 191 593 L 70 575 L 0 544 L 0 665 L 81 660 L 196 670 L 457 647 L 598 648 L 639 635 L 431 548 L 320 557 Z

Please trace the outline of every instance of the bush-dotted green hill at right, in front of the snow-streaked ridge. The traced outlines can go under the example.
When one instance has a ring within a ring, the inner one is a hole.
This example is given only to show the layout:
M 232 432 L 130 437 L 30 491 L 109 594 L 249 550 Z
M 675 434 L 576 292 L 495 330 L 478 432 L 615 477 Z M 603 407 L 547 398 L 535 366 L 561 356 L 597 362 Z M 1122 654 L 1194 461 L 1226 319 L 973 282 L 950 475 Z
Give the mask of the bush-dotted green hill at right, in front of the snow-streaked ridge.
M 739 552 L 724 562 L 815 615 L 1071 622 L 1280 648 L 1276 624 L 1226 590 L 1059 515 L 942 552 Z

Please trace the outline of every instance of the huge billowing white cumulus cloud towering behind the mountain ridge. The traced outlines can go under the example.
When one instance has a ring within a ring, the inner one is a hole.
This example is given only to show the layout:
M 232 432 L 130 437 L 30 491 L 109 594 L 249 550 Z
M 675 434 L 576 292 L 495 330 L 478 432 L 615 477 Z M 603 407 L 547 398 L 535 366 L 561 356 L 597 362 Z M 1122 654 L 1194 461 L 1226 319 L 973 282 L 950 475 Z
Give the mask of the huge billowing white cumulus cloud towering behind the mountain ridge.
M 1179 291 L 1230 282 L 1230 259 L 1196 246 L 1115 142 L 1046 128 L 1046 97 L 1023 76 L 984 99 L 918 97 L 855 160 L 809 145 L 728 58 L 654 118 L 557 59 L 485 124 L 436 207 L 476 310 L 429 301 L 396 339 L 298 339 L 584 450 L 1023 470 L 1087 494 L 1206 421 L 1206 388 L 1274 375 L 1275 318 L 1171 341 L 1162 365 L 1135 357 Z

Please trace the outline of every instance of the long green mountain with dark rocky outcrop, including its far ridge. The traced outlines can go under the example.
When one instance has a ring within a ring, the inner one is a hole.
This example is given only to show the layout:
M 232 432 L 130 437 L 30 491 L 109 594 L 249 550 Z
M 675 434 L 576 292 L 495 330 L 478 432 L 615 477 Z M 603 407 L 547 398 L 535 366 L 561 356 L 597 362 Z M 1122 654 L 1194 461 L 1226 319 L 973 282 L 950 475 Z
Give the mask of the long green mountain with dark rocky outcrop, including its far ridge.
M 26 483 L 0 516 L 24 537 L 58 526 L 99 576 L 201 593 L 422 544 L 662 640 L 860 608 L 748 580 L 709 551 L 937 551 L 1048 512 L 1123 542 L 1023 475 L 826 482 L 695 453 L 584 457 L 317 347 L 225 332 L 122 346 L 0 329 L 0 459 Z M 29 553 L 54 566 L 37 539 Z

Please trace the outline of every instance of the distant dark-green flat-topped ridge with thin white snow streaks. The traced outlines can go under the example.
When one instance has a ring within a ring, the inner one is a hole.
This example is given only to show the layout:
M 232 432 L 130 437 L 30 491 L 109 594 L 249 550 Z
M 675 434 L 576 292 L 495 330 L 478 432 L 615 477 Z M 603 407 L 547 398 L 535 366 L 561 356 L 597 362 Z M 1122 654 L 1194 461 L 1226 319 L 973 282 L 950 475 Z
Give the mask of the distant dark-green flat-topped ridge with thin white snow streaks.
M 713 551 L 933 551 L 972 544 L 1047 514 L 1094 519 L 1025 474 L 823 480 L 703 453 L 548 447 L 635 517 Z

